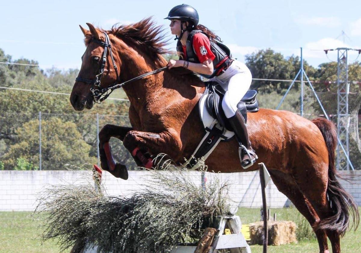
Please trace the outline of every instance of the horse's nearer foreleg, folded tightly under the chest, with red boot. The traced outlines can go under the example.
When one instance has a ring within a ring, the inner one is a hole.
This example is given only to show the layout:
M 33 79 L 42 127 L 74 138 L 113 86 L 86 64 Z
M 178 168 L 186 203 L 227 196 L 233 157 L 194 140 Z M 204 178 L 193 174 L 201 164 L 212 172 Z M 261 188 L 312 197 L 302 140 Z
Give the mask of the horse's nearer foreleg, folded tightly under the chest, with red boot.
M 160 133 L 130 131 L 125 136 L 123 145 L 131 152 L 137 164 L 140 162 L 140 166 L 145 168 L 153 166 L 152 159 L 145 153 L 165 153 L 172 159 L 178 159 L 182 149 L 181 139 L 173 129 Z

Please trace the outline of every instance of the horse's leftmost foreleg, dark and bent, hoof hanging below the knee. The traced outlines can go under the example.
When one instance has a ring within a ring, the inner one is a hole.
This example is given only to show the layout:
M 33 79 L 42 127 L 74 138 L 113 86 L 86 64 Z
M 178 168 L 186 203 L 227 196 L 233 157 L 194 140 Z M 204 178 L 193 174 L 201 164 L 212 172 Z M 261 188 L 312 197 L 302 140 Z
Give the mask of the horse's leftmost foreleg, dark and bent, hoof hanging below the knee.
M 116 163 L 110 150 L 109 140 L 111 137 L 123 140 L 126 134 L 131 131 L 130 127 L 121 127 L 116 125 L 105 125 L 99 132 L 99 154 L 100 166 L 103 170 L 109 171 L 115 177 L 127 179 L 128 174 L 126 166 Z

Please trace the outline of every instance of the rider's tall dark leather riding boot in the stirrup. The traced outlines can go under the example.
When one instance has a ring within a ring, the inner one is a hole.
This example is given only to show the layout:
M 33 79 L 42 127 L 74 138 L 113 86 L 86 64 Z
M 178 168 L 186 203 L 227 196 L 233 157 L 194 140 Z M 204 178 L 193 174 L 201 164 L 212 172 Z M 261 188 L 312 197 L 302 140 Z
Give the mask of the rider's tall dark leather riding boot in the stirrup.
M 249 141 L 246 123 L 239 111 L 236 112 L 236 115 L 229 118 L 229 123 L 239 142 L 239 154 L 242 161 L 242 167 L 247 169 L 256 162 L 258 156 L 256 155 L 255 150 L 252 149 L 251 142 Z

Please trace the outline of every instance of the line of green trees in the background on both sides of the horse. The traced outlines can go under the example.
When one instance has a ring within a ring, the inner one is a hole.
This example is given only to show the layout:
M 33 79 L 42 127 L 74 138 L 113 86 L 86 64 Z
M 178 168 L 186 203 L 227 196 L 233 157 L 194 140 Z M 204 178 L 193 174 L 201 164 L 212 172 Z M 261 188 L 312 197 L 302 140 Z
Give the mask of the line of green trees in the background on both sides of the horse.
M 177 56 L 165 57 L 176 59 Z M 37 61 L 29 59 L 13 60 L 1 49 L 0 61 L 38 64 Z M 253 78 L 291 80 L 300 69 L 298 56 L 285 57 L 270 49 L 247 55 L 245 64 L 251 70 Z M 314 81 L 314 87 L 325 107 L 334 113 L 337 63 L 323 63 L 315 68 L 305 61 L 304 69 L 310 80 Z M 0 86 L 70 93 L 78 71 L 56 68 L 42 70 L 32 66 L 0 64 Z M 361 81 L 360 63 L 349 65 L 349 80 Z M 258 91 L 261 107 L 275 108 L 289 85 L 288 82 L 253 81 L 251 89 Z M 282 108 L 298 112 L 300 83 L 295 83 L 292 90 Z M 351 84 L 351 91 L 359 93 L 358 83 Z M 129 125 L 126 116 L 129 102 L 105 100 L 90 111 L 75 113 L 69 96 L 66 95 L 0 89 L 0 96 L 0 170 L 39 168 L 39 112 L 42 113 L 43 170 L 64 170 L 69 164 L 74 165 L 74 168 L 83 168 L 84 163 L 97 163 L 97 113 L 101 115 L 100 129 L 109 123 Z M 121 90 L 117 91 L 115 96 L 126 98 Z M 309 113 L 322 114 L 311 93 L 305 93 L 305 103 L 308 104 L 305 108 Z M 112 140 L 112 149 L 117 160 L 129 163 L 130 167 L 135 168 L 131 155 L 120 141 Z M 356 144 L 355 150 L 357 149 Z

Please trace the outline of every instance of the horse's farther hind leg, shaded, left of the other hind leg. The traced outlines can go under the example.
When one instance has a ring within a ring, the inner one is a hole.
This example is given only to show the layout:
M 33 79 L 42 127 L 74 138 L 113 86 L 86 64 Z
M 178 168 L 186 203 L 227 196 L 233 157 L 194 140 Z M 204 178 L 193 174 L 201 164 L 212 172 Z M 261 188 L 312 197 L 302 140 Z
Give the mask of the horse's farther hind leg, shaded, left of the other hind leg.
M 324 230 L 318 230 L 317 225 L 320 218 L 318 217 L 316 211 L 313 209 L 311 203 L 301 192 L 300 188 L 293 180 L 293 178 L 286 173 L 269 170 L 273 183 L 277 186 L 277 189 L 285 194 L 295 205 L 297 210 L 308 220 L 313 231 L 316 233 L 319 252 L 320 253 L 329 253 L 327 245 L 327 236 Z

